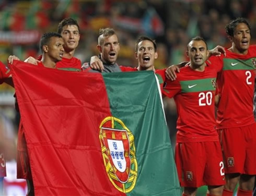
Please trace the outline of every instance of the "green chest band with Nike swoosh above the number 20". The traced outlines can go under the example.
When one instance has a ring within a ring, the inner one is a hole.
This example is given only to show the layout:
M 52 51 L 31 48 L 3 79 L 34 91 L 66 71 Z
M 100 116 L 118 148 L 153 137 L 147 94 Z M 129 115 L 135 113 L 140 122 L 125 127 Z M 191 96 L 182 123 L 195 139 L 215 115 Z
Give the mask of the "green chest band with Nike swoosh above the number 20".
M 212 82 L 213 85 L 209 85 L 210 82 Z M 180 81 L 181 92 L 191 93 L 201 91 L 214 91 L 216 89 L 215 83 L 216 78 Z

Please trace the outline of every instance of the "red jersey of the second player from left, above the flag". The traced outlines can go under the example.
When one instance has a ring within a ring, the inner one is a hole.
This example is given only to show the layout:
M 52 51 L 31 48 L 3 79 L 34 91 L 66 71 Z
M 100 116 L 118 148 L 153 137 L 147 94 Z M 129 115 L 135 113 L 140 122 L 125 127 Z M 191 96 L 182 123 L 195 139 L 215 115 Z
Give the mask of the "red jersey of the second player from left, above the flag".
M 41 60 L 42 55 L 40 55 L 37 59 Z M 76 57 L 72 57 L 72 58 L 62 57 L 62 60 L 56 63 L 56 68 L 58 69 L 76 71 L 75 69 L 80 70 L 81 67 L 82 67 L 81 60 Z

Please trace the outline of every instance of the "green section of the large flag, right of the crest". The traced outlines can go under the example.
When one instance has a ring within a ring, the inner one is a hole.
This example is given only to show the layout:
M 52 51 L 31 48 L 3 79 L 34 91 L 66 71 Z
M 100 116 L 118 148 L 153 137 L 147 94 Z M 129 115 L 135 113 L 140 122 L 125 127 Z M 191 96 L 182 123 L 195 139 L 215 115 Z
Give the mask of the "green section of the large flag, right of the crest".
M 133 190 L 126 194 L 181 195 L 154 72 L 116 72 L 102 75 L 112 116 L 121 119 L 134 136 L 137 180 Z

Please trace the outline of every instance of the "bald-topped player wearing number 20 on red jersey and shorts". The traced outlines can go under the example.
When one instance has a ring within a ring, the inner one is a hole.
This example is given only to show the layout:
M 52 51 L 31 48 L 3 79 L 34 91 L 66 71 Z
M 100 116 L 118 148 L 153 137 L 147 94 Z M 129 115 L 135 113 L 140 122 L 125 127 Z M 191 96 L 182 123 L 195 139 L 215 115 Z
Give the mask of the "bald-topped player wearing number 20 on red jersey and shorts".
M 206 42 L 201 37 L 188 44 L 190 66 L 180 69 L 177 79 L 166 80 L 163 94 L 177 105 L 176 165 L 183 195 L 195 195 L 208 186 L 207 195 L 222 195 L 225 183 L 222 150 L 215 130 L 217 69 L 207 65 Z M 162 70 L 165 75 L 165 70 Z M 165 80 L 165 79 L 164 79 Z M 200 119 L 200 120 L 199 120 Z

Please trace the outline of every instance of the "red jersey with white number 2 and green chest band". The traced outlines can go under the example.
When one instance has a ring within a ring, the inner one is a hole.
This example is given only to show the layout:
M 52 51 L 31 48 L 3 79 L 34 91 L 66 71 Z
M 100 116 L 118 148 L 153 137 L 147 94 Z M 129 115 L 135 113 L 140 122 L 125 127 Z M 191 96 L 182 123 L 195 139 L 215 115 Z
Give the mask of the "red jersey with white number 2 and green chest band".
M 251 45 L 247 55 L 226 50 L 226 57 L 212 56 L 209 60 L 220 72 L 217 87 L 220 101 L 217 110 L 217 129 L 251 125 L 253 116 L 254 69 L 256 45 Z

